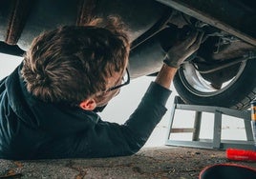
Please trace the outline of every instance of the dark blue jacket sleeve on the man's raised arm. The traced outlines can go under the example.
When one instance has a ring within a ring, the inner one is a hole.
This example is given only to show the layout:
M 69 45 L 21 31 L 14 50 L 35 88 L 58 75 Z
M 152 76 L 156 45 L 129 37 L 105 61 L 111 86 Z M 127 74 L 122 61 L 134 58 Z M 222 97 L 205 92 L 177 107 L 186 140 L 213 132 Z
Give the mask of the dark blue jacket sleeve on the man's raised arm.
M 136 153 L 166 112 L 169 89 L 152 82 L 139 107 L 124 125 L 99 120 L 94 128 L 81 132 L 74 142 L 75 157 L 109 157 Z

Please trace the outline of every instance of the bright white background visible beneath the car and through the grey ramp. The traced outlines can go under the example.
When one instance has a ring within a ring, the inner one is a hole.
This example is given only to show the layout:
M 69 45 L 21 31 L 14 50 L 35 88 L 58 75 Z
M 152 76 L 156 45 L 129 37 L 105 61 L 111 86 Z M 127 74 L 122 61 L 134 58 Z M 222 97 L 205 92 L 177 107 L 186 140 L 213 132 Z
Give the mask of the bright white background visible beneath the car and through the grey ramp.
M 0 79 L 9 75 L 22 61 L 22 57 L 11 56 L 0 53 Z M 121 88 L 120 93 L 110 101 L 109 105 L 102 112 L 98 114 L 102 120 L 123 124 L 133 111 L 138 107 L 140 99 L 144 95 L 146 89 L 155 77 L 143 76 L 138 79 L 134 79 L 128 86 Z M 168 109 L 166 114 L 158 126 L 154 129 L 149 140 L 144 147 L 160 147 L 164 146 L 167 137 L 167 130 L 170 121 L 171 109 L 173 106 L 173 100 L 175 95 L 178 95 L 174 87 L 169 100 L 167 101 L 166 108 Z M 182 110 L 180 114 L 175 117 L 175 125 L 180 128 L 186 127 L 186 125 L 193 126 L 193 119 L 195 115 Z M 142 129 L 143 127 L 141 127 Z M 236 121 L 227 117 L 227 120 L 223 119 L 223 131 L 224 138 L 230 138 L 231 140 L 245 140 L 245 126 L 242 121 Z M 206 116 L 202 120 L 201 136 L 210 138 L 213 135 L 213 120 L 210 116 Z M 190 136 L 179 135 L 177 140 L 191 140 Z

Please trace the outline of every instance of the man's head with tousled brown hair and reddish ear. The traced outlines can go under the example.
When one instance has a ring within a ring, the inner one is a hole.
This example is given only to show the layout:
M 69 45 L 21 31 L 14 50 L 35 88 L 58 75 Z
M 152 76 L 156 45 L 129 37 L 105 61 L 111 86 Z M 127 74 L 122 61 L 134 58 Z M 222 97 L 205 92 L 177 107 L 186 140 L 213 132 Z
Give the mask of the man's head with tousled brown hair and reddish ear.
M 129 41 L 121 30 L 62 27 L 36 37 L 22 68 L 27 89 L 51 103 L 103 106 L 117 93 L 128 61 Z M 85 108 L 84 108 L 85 107 Z

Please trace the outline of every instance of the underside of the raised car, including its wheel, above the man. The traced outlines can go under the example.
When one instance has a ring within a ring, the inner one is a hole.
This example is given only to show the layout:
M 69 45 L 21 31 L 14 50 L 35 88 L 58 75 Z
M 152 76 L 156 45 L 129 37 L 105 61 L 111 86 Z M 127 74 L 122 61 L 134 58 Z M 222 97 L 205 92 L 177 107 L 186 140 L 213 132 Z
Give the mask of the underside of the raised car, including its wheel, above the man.
M 165 52 L 200 30 L 200 49 L 174 79 L 184 103 L 248 109 L 255 98 L 256 2 L 251 0 L 2 0 L 0 52 L 22 56 L 42 31 L 109 15 L 128 28 L 132 79 L 156 75 Z

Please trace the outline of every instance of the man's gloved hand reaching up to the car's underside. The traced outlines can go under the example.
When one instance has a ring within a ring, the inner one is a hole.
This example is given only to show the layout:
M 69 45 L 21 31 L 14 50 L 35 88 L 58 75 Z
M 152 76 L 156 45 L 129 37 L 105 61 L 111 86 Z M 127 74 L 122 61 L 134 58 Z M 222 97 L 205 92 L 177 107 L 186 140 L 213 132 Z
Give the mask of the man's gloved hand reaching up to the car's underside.
M 163 62 L 169 67 L 179 69 L 182 62 L 199 49 L 202 39 L 203 32 L 191 32 L 184 41 L 168 50 Z

